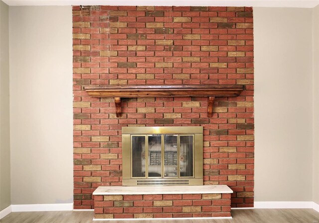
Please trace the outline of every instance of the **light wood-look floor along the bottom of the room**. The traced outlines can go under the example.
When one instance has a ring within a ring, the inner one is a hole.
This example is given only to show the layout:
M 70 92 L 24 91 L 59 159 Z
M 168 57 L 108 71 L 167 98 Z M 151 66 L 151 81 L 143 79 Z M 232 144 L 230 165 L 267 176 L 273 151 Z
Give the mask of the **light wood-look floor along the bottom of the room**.
M 245 209 L 232 210 L 233 219 L 226 220 L 134 220 L 128 223 L 319 223 L 319 213 L 312 209 Z M 1 223 L 123 223 L 92 221 L 91 211 L 15 212 Z

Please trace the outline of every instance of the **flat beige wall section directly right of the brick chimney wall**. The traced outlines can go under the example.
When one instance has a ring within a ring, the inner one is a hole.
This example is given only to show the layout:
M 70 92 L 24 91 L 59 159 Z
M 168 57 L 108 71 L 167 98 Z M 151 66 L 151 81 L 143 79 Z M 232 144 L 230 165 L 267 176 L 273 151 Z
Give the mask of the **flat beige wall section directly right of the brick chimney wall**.
M 255 201 L 312 201 L 312 9 L 254 8 Z

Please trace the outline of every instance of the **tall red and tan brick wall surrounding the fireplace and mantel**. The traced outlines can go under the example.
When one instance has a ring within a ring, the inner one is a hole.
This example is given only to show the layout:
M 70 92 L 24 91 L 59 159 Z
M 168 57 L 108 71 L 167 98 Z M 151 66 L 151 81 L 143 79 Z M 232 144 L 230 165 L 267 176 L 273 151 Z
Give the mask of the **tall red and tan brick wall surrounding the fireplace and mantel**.
M 73 6 L 74 208 L 91 209 L 98 186 L 122 185 L 122 126 L 203 126 L 204 184 L 254 190 L 251 7 Z M 244 84 L 238 97 L 132 98 L 117 118 L 90 84 Z

